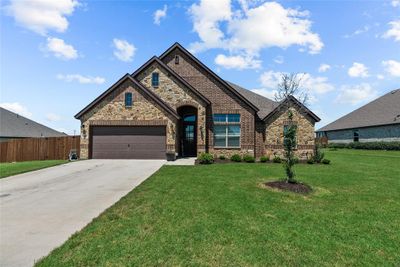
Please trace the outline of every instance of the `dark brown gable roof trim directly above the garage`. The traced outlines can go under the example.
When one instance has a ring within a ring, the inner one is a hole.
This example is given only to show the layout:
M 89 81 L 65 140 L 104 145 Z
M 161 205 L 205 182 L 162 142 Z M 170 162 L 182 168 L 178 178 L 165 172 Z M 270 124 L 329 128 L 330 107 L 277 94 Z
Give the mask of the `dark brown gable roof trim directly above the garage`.
M 82 117 L 83 114 L 85 114 L 87 111 L 89 111 L 93 106 L 95 106 L 97 103 L 99 103 L 102 99 L 104 99 L 109 93 L 114 91 L 120 84 L 122 84 L 125 80 L 130 80 L 132 81 L 136 86 L 138 86 L 147 96 L 149 96 L 154 102 L 156 102 L 158 105 L 160 105 L 165 111 L 167 111 L 169 114 L 174 116 L 175 118 L 179 119 L 178 113 L 167 103 L 161 100 L 155 93 L 144 87 L 140 82 L 138 82 L 135 78 L 133 78 L 129 73 L 125 74 L 121 79 L 119 79 L 116 83 L 114 83 L 110 88 L 108 88 L 106 91 L 104 91 L 100 96 L 98 96 L 95 100 L 93 100 L 89 105 L 87 105 L 84 109 L 82 109 L 80 112 L 78 112 L 75 115 L 76 119 L 79 119 Z

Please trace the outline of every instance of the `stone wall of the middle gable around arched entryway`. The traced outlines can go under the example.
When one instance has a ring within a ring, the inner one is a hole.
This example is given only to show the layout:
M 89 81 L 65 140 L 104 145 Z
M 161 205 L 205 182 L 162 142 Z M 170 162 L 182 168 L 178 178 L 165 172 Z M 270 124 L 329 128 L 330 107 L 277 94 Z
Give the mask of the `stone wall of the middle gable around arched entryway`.
M 157 87 L 153 87 L 151 84 L 151 77 L 154 72 L 159 74 L 159 86 Z M 175 110 L 178 110 L 178 108 L 182 106 L 197 108 L 197 153 L 204 152 L 206 149 L 205 129 L 207 104 L 179 80 L 170 75 L 169 72 L 158 63 L 153 63 L 148 66 L 137 76 L 137 79 Z M 179 140 L 176 141 L 176 147 L 178 147 L 180 145 Z

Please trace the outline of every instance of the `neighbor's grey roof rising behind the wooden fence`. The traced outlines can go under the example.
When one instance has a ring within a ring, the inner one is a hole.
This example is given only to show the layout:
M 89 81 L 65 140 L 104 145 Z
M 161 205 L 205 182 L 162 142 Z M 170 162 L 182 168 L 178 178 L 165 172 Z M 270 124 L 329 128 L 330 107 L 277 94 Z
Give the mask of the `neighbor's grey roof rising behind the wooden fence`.
M 0 107 L 0 142 L 10 139 L 58 136 L 66 134 Z

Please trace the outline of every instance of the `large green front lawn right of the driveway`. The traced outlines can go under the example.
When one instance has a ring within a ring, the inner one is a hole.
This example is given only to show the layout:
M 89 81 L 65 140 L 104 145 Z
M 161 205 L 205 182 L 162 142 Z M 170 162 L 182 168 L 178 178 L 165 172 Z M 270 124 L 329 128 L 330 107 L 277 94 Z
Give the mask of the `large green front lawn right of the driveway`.
M 399 266 L 400 152 L 326 157 L 308 196 L 259 186 L 280 164 L 164 166 L 37 266 Z

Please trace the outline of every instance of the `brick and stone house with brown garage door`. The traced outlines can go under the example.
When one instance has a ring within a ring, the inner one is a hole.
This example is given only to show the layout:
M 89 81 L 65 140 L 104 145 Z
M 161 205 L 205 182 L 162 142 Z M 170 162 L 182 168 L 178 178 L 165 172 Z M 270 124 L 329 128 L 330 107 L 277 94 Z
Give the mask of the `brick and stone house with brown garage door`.
M 175 43 L 75 115 L 81 158 L 282 154 L 287 103 L 298 126 L 297 155 L 309 157 L 320 120 L 314 113 L 294 97 L 277 103 L 223 80 Z

